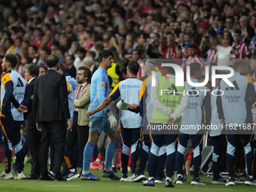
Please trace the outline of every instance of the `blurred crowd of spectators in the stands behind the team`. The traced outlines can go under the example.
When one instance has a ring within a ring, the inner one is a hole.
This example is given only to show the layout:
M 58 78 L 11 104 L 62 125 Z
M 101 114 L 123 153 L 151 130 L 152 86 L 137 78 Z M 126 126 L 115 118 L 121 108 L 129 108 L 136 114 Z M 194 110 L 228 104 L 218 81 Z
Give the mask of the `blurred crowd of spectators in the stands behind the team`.
M 142 79 L 148 58 L 180 59 L 183 69 L 195 61 L 230 66 L 254 59 L 251 0 L 11 0 L 0 1 L 0 20 L 0 62 L 15 54 L 22 76 L 26 63 L 46 66 L 49 54 L 74 78 L 80 66 L 95 72 L 103 49 L 114 52 L 112 86 L 126 78 L 131 60 Z

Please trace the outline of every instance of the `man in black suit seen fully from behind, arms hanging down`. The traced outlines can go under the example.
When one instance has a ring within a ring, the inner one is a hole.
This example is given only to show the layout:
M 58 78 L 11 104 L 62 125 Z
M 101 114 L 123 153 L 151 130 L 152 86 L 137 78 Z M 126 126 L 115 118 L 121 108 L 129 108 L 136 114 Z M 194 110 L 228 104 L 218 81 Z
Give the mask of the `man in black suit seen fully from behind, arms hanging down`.
M 55 141 L 54 177 L 58 181 L 66 181 L 60 174 L 66 145 L 66 120 L 68 120 L 68 129 L 72 129 L 66 78 L 57 72 L 58 56 L 47 56 L 46 63 L 49 70 L 35 80 L 33 100 L 35 123 L 38 130 L 41 131 L 40 179 L 51 180 L 47 175 L 47 158 L 50 137 L 53 136 Z

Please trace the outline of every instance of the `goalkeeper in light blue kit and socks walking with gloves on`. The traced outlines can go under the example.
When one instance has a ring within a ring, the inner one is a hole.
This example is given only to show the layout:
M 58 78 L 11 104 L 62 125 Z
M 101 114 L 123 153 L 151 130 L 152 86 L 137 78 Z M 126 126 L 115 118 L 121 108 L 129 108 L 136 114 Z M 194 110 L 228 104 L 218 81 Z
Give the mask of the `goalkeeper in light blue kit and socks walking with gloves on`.
M 90 118 L 90 133 L 87 145 L 84 148 L 83 172 L 81 174 L 81 179 L 83 180 L 99 181 L 99 178 L 96 178 L 90 173 L 89 166 L 90 159 L 93 155 L 93 149 L 97 145 L 99 135 L 102 131 L 104 131 L 109 138 L 105 156 L 105 169 L 102 172 L 102 176 L 111 178 L 112 180 L 120 180 L 117 175 L 114 175 L 114 172 L 111 169 L 111 160 L 113 159 L 115 148 L 119 142 L 117 130 L 114 129 L 117 127 L 117 120 L 114 118 L 108 106 L 97 113 L 93 112 L 93 110 L 108 97 L 109 81 L 107 70 L 111 68 L 111 63 L 113 61 L 113 53 L 109 50 L 102 50 L 99 53 L 99 69 L 93 74 L 91 80 L 90 105 L 87 112 L 87 117 Z

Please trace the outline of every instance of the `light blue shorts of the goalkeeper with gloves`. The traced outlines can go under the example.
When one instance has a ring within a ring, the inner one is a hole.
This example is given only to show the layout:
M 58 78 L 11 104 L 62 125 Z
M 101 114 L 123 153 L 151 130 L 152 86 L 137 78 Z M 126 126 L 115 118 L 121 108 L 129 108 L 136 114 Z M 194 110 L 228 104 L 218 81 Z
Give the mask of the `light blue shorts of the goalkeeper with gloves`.
M 111 130 L 114 130 L 114 129 L 111 129 L 108 117 L 102 117 L 102 118 L 99 118 L 99 120 L 90 121 L 89 131 L 92 133 L 100 134 L 102 133 L 102 131 L 105 133 L 108 133 Z

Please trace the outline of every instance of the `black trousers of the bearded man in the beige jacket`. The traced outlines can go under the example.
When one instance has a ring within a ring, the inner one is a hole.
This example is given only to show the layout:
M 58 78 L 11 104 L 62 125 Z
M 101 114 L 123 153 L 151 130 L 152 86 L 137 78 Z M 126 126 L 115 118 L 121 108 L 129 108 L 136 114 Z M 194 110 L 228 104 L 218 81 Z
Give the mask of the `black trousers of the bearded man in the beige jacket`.
M 66 148 L 69 151 L 69 156 L 72 159 L 73 166 L 76 168 L 78 163 L 78 157 L 75 153 L 75 145 L 78 142 L 79 149 L 84 153 L 84 147 L 87 144 L 89 137 L 89 126 L 79 126 L 78 125 L 78 111 L 75 111 L 73 116 L 73 127 L 72 131 L 68 131 L 66 134 Z

